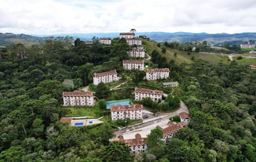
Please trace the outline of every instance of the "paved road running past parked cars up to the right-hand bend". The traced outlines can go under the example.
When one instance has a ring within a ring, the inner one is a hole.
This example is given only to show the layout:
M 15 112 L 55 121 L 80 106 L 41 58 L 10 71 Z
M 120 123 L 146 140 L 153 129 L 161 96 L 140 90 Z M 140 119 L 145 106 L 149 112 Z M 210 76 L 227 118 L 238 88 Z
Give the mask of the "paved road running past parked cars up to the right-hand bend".
M 127 130 L 129 130 L 129 132 L 130 132 L 130 131 L 134 131 L 135 129 L 140 130 L 140 129 L 143 129 L 143 127 L 147 127 L 147 126 L 150 126 L 150 125 L 155 125 L 156 122 L 160 122 L 160 121 L 163 121 L 163 120 L 169 120 L 170 117 L 175 116 L 175 115 L 179 115 L 180 112 L 183 112 L 183 111 L 189 113 L 189 110 L 188 110 L 188 107 L 186 106 L 186 104 L 183 101 L 180 101 L 180 108 L 177 111 L 170 112 L 170 113 L 161 113 L 161 115 L 167 115 L 166 117 L 159 118 L 159 119 L 154 120 L 152 122 L 140 124 L 140 125 L 137 125 L 137 126 L 132 126 L 132 127 L 129 127 L 129 128 L 123 128 L 119 131 L 116 131 L 115 135 L 118 136 L 120 134 L 126 133 Z

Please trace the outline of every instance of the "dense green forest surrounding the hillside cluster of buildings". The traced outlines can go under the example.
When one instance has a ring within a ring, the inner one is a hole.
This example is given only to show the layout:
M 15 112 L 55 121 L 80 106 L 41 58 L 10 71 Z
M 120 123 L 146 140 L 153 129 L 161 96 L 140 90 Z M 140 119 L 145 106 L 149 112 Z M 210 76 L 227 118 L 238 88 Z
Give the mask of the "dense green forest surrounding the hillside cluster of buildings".
M 174 93 L 189 107 L 191 121 L 167 145 L 154 129 L 148 151 L 133 157 L 124 143 L 108 141 L 114 129 L 107 123 L 91 131 L 59 122 L 63 81 L 73 80 L 76 89 L 92 83 L 94 72 L 121 74 L 131 47 L 119 38 L 110 46 L 72 42 L 47 38 L 0 49 L 0 161 L 256 161 L 255 70 L 235 61 L 177 66 L 152 52 L 152 64 L 170 68 L 180 83 Z

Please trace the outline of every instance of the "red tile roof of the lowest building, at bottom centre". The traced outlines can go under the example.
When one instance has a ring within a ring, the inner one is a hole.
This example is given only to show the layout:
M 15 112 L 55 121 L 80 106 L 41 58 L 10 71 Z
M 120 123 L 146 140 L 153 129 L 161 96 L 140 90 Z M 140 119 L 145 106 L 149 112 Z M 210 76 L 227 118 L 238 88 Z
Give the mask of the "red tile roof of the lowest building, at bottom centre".
M 137 145 L 147 145 L 146 141 L 147 141 L 147 137 L 142 138 L 141 135 L 139 133 L 135 134 L 135 139 L 127 139 L 124 140 L 124 137 L 122 135 L 119 135 L 115 141 L 120 141 L 120 142 L 124 142 L 126 145 L 128 146 L 137 146 Z

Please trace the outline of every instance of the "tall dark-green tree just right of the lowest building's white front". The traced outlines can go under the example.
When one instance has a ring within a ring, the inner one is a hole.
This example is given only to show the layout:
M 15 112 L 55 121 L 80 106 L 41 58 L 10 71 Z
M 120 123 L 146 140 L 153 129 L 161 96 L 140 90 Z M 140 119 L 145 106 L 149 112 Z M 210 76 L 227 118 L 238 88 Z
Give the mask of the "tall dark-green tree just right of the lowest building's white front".
M 147 150 L 149 153 L 155 155 L 157 158 L 163 155 L 164 141 L 163 132 L 159 128 L 152 129 L 150 134 L 147 135 Z

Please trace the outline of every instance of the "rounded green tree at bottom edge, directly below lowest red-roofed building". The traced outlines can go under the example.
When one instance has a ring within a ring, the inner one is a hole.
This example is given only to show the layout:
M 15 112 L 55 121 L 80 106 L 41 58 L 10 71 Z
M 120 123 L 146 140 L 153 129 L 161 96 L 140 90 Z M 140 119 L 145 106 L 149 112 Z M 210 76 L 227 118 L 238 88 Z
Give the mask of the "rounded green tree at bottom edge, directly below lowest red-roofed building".
M 110 142 L 102 150 L 102 161 L 132 161 L 131 149 L 124 142 Z

